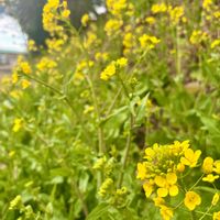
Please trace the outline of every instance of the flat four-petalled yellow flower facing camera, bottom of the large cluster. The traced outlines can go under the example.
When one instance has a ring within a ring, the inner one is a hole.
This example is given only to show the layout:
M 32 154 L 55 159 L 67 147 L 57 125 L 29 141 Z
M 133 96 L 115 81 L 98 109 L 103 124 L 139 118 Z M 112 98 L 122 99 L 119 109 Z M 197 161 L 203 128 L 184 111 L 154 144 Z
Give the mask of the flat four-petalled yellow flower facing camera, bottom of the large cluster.
M 157 189 L 158 197 L 176 196 L 178 194 L 178 187 L 176 186 L 177 176 L 175 173 L 168 173 L 166 178 L 162 176 L 155 177 L 155 184 L 160 187 Z

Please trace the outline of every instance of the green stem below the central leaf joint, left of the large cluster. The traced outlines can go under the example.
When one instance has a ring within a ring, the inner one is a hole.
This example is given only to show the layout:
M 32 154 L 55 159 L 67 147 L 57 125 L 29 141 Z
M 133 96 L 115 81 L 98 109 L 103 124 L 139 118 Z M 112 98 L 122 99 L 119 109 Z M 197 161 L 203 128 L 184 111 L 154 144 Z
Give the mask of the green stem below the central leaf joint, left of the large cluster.
M 128 158 L 129 158 L 129 152 L 130 152 L 130 148 L 131 148 L 133 123 L 134 123 L 134 118 L 131 114 L 131 118 L 130 118 L 130 131 L 129 131 L 129 134 L 128 134 L 128 138 L 127 138 L 125 152 L 124 152 L 123 160 L 122 160 L 122 170 L 121 170 L 121 175 L 119 177 L 118 188 L 121 188 L 121 185 L 123 183 L 124 170 L 125 170 L 125 167 L 127 167 L 127 162 L 128 162 Z

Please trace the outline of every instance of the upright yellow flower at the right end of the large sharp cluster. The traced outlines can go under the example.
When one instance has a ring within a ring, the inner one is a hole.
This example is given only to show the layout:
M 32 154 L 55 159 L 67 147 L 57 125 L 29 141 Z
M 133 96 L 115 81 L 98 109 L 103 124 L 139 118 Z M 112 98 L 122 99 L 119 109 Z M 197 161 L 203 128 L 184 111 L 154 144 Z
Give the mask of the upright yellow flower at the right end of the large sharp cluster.
M 195 167 L 201 154 L 200 150 L 194 152 L 191 148 L 187 148 L 184 153 L 184 157 L 180 158 L 180 162 L 189 167 Z

